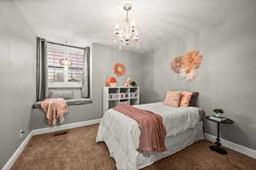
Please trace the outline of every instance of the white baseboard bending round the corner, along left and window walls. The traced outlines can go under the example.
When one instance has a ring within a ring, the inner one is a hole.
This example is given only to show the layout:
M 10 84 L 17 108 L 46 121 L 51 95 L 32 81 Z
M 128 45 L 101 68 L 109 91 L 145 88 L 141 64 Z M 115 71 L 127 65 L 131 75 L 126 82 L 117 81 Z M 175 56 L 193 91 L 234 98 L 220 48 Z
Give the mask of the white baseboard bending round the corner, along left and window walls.
M 38 135 L 38 134 L 44 134 L 44 133 L 53 133 L 56 131 L 67 130 L 67 129 L 75 128 L 75 127 L 85 127 L 88 125 L 99 123 L 99 122 L 101 122 L 101 120 L 102 119 L 94 119 L 94 120 L 90 120 L 90 121 L 74 122 L 74 123 L 69 123 L 69 124 L 63 124 L 63 125 L 56 126 L 56 127 L 45 127 L 45 128 L 39 128 L 39 129 L 32 130 L 31 133 L 29 133 L 26 136 L 26 139 L 24 139 L 23 142 L 20 144 L 19 148 L 17 150 L 15 150 L 15 153 L 13 154 L 13 156 L 11 156 L 9 158 L 9 161 L 7 161 L 7 163 L 3 166 L 2 170 L 9 170 L 14 165 L 15 161 L 18 159 L 18 157 L 20 156 L 22 151 L 25 149 L 26 144 L 30 141 L 32 136 Z

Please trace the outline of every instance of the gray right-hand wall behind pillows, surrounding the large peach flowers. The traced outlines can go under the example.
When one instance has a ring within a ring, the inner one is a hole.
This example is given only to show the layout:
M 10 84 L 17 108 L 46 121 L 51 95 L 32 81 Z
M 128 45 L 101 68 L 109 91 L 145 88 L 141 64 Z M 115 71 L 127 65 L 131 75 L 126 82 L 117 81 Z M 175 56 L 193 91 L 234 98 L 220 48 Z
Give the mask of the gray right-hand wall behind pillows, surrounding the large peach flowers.
M 221 127 L 221 137 L 256 150 L 256 12 L 201 32 L 200 37 L 176 40 L 144 54 L 143 102 L 163 101 L 166 90 L 200 92 L 199 105 L 207 115 L 223 108 L 235 121 Z M 185 82 L 170 68 L 171 60 L 191 49 L 204 56 L 199 76 Z M 216 135 L 216 124 L 205 121 Z

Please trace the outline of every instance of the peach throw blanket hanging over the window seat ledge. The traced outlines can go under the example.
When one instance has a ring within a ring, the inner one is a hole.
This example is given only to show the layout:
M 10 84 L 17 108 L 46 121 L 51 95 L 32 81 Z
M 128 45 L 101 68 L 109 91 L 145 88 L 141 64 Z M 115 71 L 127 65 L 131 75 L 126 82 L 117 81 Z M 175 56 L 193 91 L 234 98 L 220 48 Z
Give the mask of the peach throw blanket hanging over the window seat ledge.
M 41 108 L 46 114 L 49 126 L 54 126 L 56 119 L 59 119 L 62 123 L 64 121 L 64 114 L 68 111 L 66 100 L 61 98 L 45 99 L 41 103 Z

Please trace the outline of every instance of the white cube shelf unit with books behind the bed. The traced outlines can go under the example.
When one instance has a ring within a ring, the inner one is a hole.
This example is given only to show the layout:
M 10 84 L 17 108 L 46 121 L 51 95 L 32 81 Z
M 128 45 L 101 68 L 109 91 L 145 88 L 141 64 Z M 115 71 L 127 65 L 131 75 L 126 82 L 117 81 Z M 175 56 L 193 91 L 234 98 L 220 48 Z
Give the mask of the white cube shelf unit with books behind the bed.
M 139 105 L 139 87 L 103 87 L 103 111 L 117 105 Z

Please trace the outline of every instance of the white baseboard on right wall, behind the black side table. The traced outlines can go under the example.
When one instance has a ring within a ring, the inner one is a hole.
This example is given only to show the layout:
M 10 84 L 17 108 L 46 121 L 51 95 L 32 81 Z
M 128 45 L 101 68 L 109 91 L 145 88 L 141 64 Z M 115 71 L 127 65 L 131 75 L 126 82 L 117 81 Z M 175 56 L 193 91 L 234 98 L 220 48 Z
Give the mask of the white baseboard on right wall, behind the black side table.
M 217 138 L 216 136 L 213 136 L 212 134 L 209 134 L 209 133 L 204 133 L 204 136 L 205 136 L 205 139 L 210 140 L 211 142 L 215 142 Z M 250 156 L 256 159 L 256 150 L 252 150 L 240 144 L 235 144 L 225 139 L 220 139 L 220 142 L 222 145 L 224 145 L 227 148 L 230 148 L 231 150 L 236 150 L 241 154 L 244 154 L 246 156 Z

